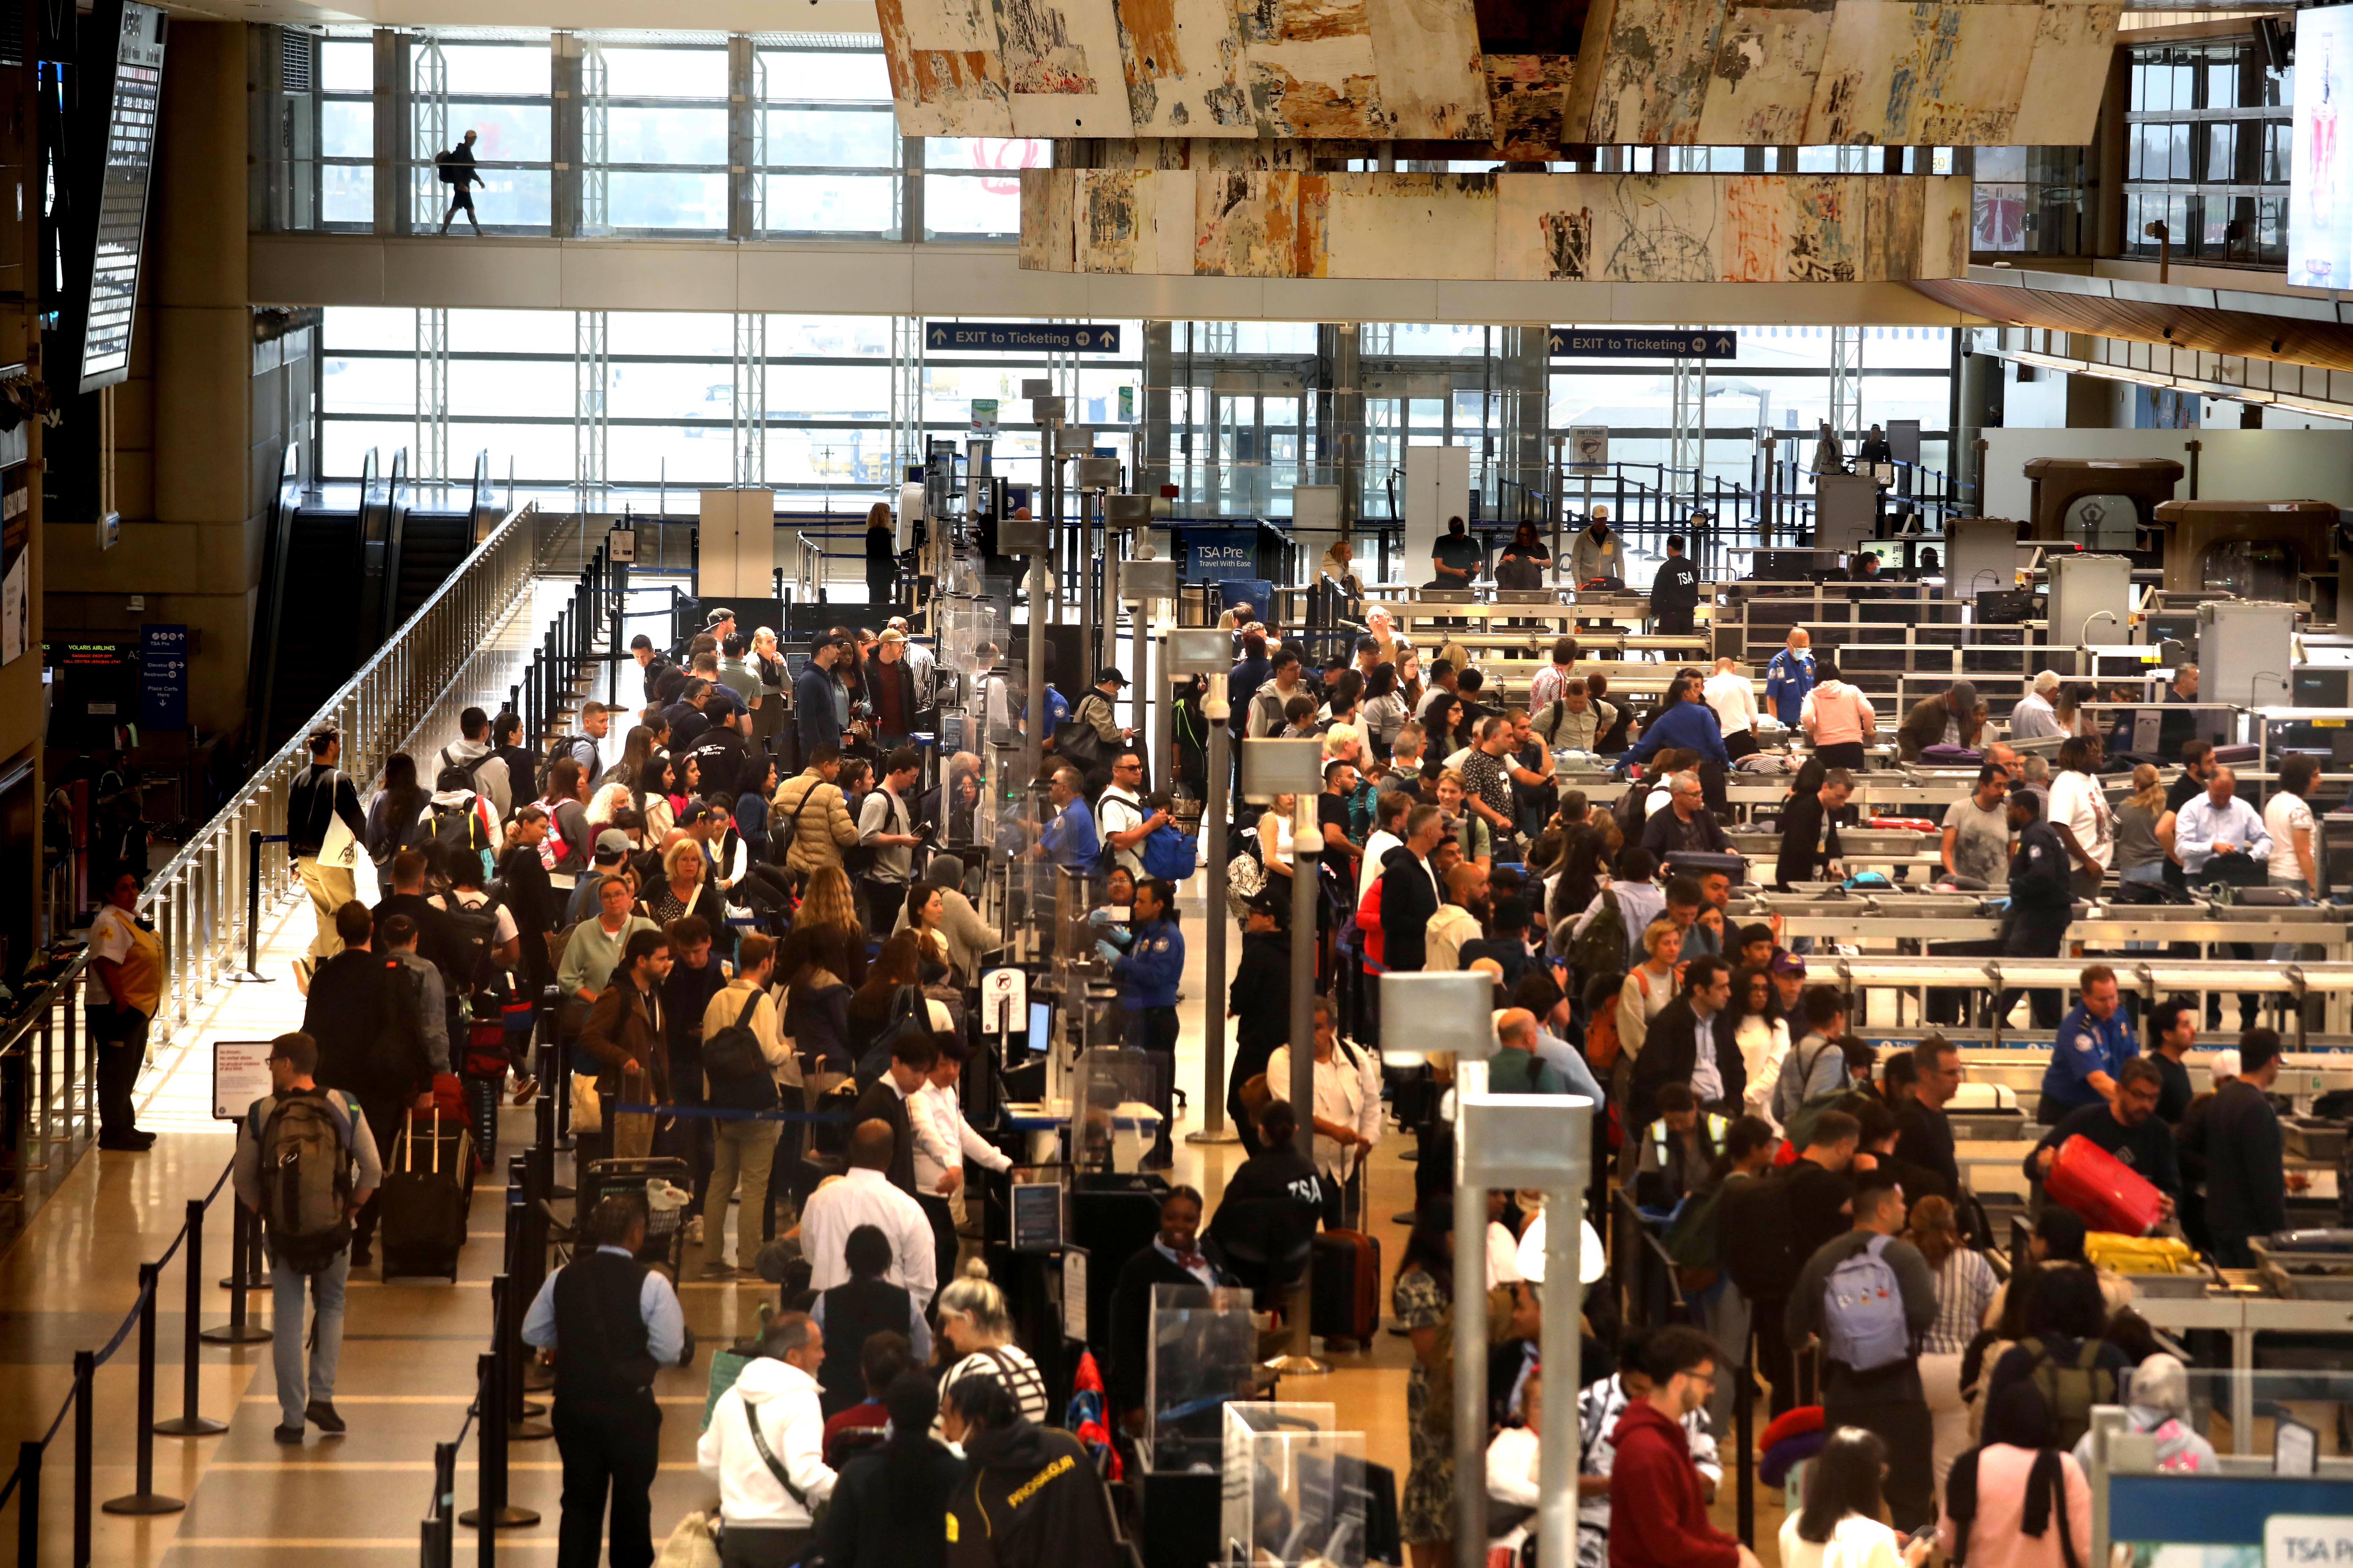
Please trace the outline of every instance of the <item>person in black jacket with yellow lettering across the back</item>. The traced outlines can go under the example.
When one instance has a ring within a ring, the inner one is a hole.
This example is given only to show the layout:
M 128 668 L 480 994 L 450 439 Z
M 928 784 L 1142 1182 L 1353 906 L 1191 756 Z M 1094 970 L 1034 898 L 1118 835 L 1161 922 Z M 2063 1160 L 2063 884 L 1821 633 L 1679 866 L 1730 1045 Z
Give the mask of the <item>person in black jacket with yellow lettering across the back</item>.
M 1024 1420 L 995 1378 L 951 1387 L 939 1418 L 969 1467 L 948 1502 L 948 1568 L 1115 1561 L 1111 1495 L 1075 1436 Z

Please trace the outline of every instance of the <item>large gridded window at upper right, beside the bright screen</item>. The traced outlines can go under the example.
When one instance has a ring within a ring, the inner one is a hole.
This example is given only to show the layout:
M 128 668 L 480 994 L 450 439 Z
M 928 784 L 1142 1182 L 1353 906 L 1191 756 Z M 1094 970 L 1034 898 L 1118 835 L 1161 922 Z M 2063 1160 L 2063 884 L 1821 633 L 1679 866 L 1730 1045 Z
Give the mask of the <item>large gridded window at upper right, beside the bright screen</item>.
M 2287 266 L 2289 80 L 2252 42 L 2132 49 L 2125 254 Z

